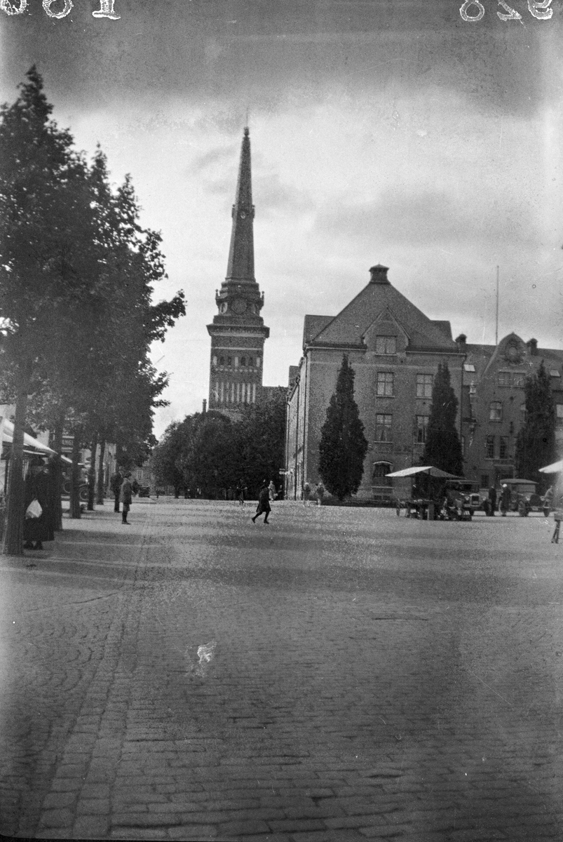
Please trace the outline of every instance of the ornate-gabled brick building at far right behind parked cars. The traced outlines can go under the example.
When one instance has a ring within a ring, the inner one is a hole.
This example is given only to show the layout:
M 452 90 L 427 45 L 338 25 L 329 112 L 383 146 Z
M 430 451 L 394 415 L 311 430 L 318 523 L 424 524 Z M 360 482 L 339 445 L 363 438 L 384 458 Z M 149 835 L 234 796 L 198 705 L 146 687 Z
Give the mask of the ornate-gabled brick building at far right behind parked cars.
M 526 407 L 524 380 L 543 361 L 550 376 L 555 407 L 555 439 L 563 448 L 563 351 L 538 348 L 509 333 L 498 345 L 468 344 L 457 339 L 465 354 L 462 390 L 462 449 L 465 476 L 480 488 L 498 488 L 516 476 L 515 450 Z M 522 477 L 528 479 L 530 477 Z

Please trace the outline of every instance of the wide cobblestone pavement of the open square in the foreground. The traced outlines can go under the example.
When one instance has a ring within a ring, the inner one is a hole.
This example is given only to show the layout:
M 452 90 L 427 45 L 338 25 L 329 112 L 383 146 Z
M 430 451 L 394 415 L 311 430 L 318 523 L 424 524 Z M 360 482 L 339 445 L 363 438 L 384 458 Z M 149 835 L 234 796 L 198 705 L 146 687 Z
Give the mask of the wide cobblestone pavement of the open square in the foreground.
M 0 557 L 0 831 L 563 839 L 553 522 L 251 514 L 106 506 Z

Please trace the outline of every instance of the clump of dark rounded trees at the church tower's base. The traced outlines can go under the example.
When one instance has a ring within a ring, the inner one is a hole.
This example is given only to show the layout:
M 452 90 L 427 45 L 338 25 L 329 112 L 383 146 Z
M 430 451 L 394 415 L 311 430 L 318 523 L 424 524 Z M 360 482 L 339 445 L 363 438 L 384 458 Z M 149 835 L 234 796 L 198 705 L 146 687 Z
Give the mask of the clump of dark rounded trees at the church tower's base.
M 154 449 L 151 466 L 160 485 L 180 493 L 222 498 L 242 482 L 249 496 L 264 480 L 279 487 L 284 466 L 284 388 L 232 421 L 211 410 L 170 424 Z

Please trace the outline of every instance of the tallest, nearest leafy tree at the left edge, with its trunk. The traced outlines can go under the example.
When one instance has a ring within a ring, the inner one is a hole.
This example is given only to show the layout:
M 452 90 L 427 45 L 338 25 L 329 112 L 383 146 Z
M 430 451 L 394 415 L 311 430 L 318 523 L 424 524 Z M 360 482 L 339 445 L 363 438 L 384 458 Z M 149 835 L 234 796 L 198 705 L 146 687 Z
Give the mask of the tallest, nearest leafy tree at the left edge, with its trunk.
M 104 298 L 88 168 L 50 120 L 35 67 L 0 109 L 0 342 L 16 412 L 4 551 L 22 553 L 23 431 L 34 378 L 57 366 Z

